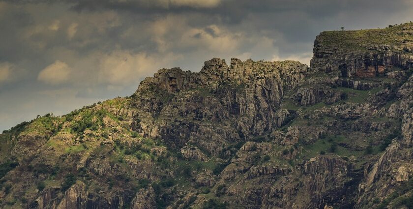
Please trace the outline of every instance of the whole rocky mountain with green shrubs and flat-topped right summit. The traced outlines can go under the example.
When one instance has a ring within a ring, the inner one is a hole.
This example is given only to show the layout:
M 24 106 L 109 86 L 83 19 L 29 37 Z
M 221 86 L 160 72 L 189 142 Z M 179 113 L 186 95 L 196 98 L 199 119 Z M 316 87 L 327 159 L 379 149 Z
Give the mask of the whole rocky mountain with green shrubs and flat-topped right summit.
M 0 135 L 4 209 L 413 208 L 413 24 L 214 58 Z

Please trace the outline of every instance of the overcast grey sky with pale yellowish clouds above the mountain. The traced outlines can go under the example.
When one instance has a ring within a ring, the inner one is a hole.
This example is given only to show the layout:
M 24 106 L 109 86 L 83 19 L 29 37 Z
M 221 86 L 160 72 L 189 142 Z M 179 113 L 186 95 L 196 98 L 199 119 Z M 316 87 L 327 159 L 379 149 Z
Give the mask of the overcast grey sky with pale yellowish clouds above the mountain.
M 159 68 L 308 64 L 323 30 L 412 20 L 412 0 L 0 0 L 0 131 L 131 95 Z

